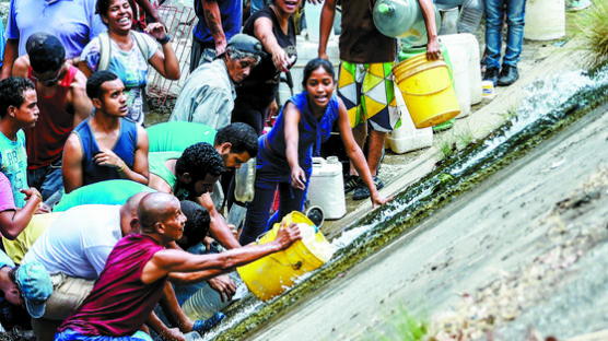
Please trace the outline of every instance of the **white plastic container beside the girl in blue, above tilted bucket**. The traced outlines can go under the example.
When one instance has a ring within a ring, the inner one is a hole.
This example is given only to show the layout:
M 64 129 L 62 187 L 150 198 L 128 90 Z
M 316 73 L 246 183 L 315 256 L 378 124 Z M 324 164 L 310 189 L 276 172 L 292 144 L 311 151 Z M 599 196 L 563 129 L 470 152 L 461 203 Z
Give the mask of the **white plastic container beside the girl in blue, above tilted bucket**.
M 325 220 L 337 220 L 347 214 L 342 164 L 336 156 L 313 157 L 313 174 L 308 185 L 309 205 L 318 205 Z

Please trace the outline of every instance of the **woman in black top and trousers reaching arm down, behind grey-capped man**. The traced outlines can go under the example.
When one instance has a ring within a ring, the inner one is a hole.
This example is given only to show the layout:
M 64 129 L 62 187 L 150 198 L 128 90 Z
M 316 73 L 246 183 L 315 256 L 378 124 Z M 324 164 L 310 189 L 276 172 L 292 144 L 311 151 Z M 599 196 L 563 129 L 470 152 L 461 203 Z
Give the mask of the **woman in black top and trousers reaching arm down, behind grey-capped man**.
M 258 38 L 268 56 L 236 87 L 232 122 L 245 122 L 261 134 L 265 114 L 274 102 L 279 77 L 295 63 L 295 25 L 292 14 L 301 0 L 272 0 L 252 15 L 243 33 Z

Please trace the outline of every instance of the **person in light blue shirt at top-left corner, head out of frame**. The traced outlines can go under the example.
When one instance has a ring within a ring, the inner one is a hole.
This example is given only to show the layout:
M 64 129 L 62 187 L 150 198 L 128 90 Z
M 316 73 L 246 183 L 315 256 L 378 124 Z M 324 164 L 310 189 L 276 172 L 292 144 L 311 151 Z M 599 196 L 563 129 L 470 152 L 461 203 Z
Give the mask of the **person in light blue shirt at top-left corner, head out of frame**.
M 84 46 L 106 31 L 98 14 L 96 0 L 11 0 L 7 24 L 7 46 L 2 78 L 11 75 L 13 62 L 26 54 L 25 42 L 35 32 L 46 31 L 59 38 L 66 57 L 78 63 Z

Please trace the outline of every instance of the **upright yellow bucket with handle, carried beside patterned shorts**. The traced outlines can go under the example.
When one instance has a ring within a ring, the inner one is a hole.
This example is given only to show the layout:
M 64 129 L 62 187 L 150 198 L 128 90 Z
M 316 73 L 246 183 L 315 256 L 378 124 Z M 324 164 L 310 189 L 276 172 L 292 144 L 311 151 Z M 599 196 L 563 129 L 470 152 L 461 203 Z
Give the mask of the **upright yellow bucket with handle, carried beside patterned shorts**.
M 460 114 L 443 59 L 429 61 L 421 54 L 396 64 L 393 74 L 416 128 L 443 124 Z

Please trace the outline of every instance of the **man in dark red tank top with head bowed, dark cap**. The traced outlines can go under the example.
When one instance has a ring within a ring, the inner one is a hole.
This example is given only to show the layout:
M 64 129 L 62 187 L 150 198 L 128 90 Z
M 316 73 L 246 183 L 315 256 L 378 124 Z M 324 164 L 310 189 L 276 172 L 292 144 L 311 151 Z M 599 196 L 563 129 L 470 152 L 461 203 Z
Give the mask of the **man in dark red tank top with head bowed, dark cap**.
M 66 60 L 59 39 L 34 33 L 25 44 L 27 55 L 14 63 L 13 75 L 36 84 L 40 114 L 35 127 L 24 129 L 27 149 L 27 180 L 47 200 L 63 189 L 61 154 L 63 145 L 81 121 L 92 111 L 86 97 L 86 78 Z

